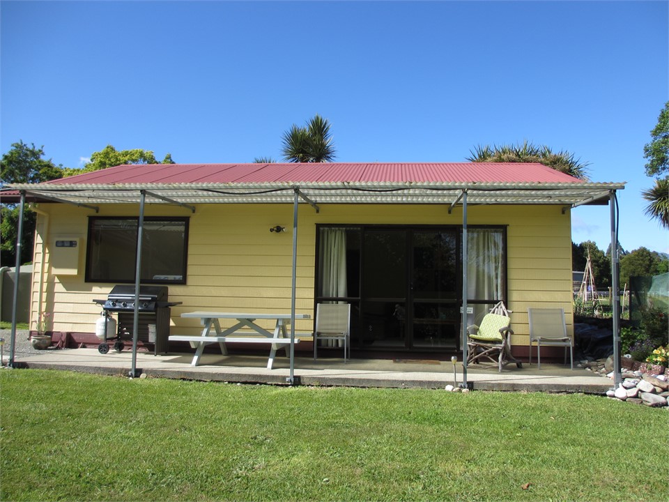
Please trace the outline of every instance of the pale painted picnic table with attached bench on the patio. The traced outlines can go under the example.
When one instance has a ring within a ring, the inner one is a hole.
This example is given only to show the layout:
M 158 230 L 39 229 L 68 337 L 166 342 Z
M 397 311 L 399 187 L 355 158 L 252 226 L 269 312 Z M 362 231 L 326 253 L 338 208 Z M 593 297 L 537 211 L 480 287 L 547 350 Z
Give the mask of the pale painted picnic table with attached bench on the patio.
M 191 366 L 197 366 L 204 347 L 208 344 L 218 343 L 224 356 L 228 351 L 225 347 L 227 343 L 248 343 L 248 344 L 271 344 L 270 357 L 267 362 L 267 369 L 271 370 L 274 364 L 274 358 L 277 350 L 285 349 L 286 356 L 289 356 L 289 347 L 292 343 L 299 343 L 299 339 L 291 340 L 288 336 L 286 326 L 291 324 L 291 314 L 259 314 L 259 313 L 240 313 L 240 312 L 184 312 L 181 317 L 200 319 L 203 326 L 201 335 L 171 335 L 170 341 L 190 342 L 191 347 L 195 348 L 195 354 Z M 230 328 L 222 329 L 220 319 L 236 319 L 237 324 Z M 256 324 L 255 321 L 263 319 L 275 319 L 274 331 L 266 330 Z M 311 319 L 309 314 L 295 314 L 295 319 Z M 242 328 L 250 328 L 255 333 L 245 331 L 238 333 Z M 237 336 L 233 336 L 237 335 Z

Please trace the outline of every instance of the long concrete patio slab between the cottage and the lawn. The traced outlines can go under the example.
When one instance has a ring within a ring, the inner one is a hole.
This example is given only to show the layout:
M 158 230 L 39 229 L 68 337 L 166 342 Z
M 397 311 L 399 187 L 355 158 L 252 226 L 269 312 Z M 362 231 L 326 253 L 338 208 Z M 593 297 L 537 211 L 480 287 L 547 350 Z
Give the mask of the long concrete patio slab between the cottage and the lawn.
M 5 353 L 7 359 L 7 352 Z M 286 384 L 290 376 L 289 360 L 277 357 L 273 370 L 267 370 L 266 356 L 240 356 L 205 353 L 200 365 L 192 367 L 192 353 L 137 353 L 137 373 L 149 378 L 225 381 L 238 383 Z M 49 370 L 72 370 L 95 374 L 128 376 L 132 353 L 110 351 L 101 354 L 96 348 L 47 349 L 24 354 L 15 360 L 17 366 Z M 456 381 L 463 379 L 463 367 L 456 363 Z M 491 365 L 468 367 L 468 383 L 474 390 L 539 391 L 603 394 L 613 388 L 613 381 L 590 371 L 570 370 L 563 365 L 526 363 L 522 368 L 508 365 L 497 371 Z M 378 388 L 444 388 L 453 385 L 450 361 L 341 359 L 296 357 L 295 379 L 308 386 L 350 386 Z

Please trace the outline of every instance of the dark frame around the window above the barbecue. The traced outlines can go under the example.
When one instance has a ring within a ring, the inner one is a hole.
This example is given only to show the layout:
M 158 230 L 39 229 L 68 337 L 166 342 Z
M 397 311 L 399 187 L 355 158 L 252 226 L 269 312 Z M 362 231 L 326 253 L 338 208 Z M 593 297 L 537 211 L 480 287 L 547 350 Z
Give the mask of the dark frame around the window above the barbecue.
M 94 222 L 100 220 L 126 220 L 134 221 L 137 223 L 137 234 L 139 234 L 139 216 L 89 216 L 88 222 L 88 233 L 86 240 L 86 272 L 84 274 L 84 282 L 97 282 L 102 284 L 134 284 L 134 275 L 136 273 L 137 267 L 137 236 L 134 239 L 134 262 L 132 263 L 132 278 L 121 279 L 110 277 L 109 279 L 96 279 L 91 277 L 93 271 L 93 225 Z M 187 216 L 145 216 L 144 222 L 180 222 L 184 225 L 184 237 L 183 237 L 183 267 L 181 270 L 180 280 L 167 280 L 167 279 L 141 279 L 142 284 L 186 284 L 186 272 L 188 269 L 188 236 L 189 236 L 189 227 L 190 227 L 190 218 Z M 144 247 L 142 247 L 142 252 L 144 252 Z

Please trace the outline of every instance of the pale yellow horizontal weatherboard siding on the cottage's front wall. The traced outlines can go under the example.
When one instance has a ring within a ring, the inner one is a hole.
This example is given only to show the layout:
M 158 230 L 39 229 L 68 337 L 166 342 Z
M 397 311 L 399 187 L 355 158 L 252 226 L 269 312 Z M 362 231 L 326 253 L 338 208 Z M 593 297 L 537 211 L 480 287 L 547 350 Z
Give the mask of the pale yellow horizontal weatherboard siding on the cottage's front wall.
M 137 206 L 109 204 L 100 213 L 65 204 L 40 204 L 34 254 L 31 328 L 38 312 L 53 313 L 54 330 L 93 333 L 100 306 L 114 284 L 84 282 L 88 217 L 137 216 Z M 190 218 L 187 284 L 169 284 L 171 331 L 196 334 L 197 320 L 180 314 L 193 310 L 289 312 L 293 249 L 290 204 L 202 204 L 186 208 L 147 204 L 147 216 Z M 299 207 L 296 310 L 314 314 L 314 268 L 317 224 L 462 225 L 462 209 L 447 205 L 336 205 Z M 571 222 L 561 206 L 471 206 L 469 225 L 507 227 L 507 290 L 514 345 L 528 343 L 527 308 L 564 307 L 571 330 Z M 270 227 L 286 227 L 282 233 Z M 49 247 L 54 236 L 79 237 L 79 273 L 54 275 Z M 298 321 L 309 333 L 313 321 Z M 266 327 L 270 327 L 265 324 Z

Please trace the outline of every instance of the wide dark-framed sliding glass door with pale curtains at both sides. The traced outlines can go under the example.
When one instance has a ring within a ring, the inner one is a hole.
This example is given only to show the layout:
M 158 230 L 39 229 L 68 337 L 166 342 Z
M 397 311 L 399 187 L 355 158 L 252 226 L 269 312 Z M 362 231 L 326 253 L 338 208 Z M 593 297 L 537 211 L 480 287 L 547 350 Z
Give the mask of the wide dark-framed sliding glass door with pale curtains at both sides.
M 504 298 L 506 243 L 500 227 L 468 234 L 473 324 Z M 354 355 L 459 351 L 461 240 L 456 226 L 320 226 L 316 302 L 351 303 Z

